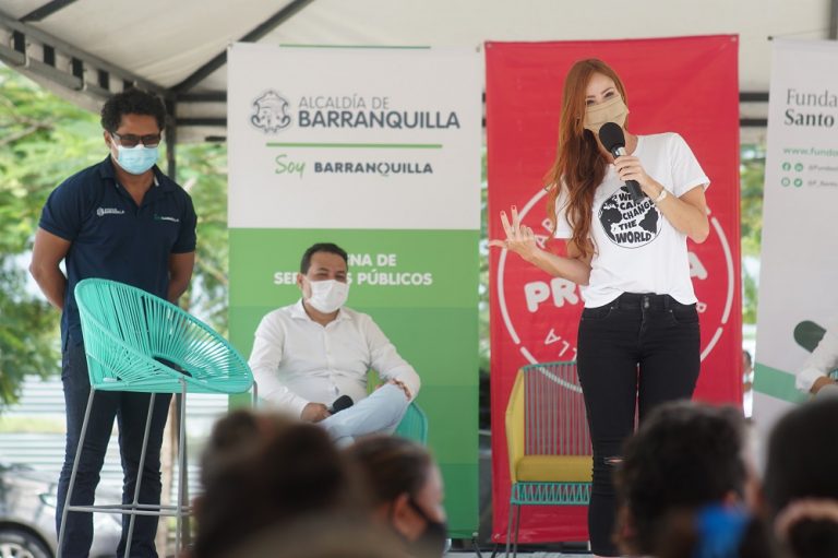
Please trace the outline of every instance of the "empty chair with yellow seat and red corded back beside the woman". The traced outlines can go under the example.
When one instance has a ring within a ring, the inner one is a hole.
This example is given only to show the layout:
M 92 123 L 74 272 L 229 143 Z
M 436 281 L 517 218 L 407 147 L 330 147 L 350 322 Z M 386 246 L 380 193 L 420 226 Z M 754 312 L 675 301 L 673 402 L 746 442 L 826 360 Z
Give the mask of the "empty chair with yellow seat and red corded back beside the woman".
M 518 370 L 505 426 L 512 479 L 506 556 L 511 544 L 517 556 L 523 506 L 587 506 L 590 500 L 592 447 L 576 363 Z

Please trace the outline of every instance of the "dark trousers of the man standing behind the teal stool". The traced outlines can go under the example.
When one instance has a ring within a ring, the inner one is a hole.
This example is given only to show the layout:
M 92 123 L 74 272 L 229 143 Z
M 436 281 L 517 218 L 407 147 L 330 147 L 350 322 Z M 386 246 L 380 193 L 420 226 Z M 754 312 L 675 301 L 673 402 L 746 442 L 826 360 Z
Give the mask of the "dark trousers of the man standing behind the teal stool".
M 67 447 L 64 464 L 58 482 L 58 507 L 56 531 L 61 529 L 61 514 L 70 485 L 70 473 L 75 461 L 75 451 L 82 434 L 84 412 L 91 393 L 87 376 L 87 360 L 81 342 L 68 341 L 63 352 L 61 380 L 64 387 L 67 404 Z M 119 425 L 119 451 L 122 460 L 123 484 L 122 502 L 131 503 L 140 468 L 140 453 L 143 444 L 145 419 L 148 413 L 147 393 L 97 391 L 87 422 L 87 434 L 79 461 L 79 471 L 73 486 L 72 503 L 92 504 L 99 484 L 99 472 L 105 461 L 105 452 L 113 430 L 113 419 Z M 160 446 L 163 429 L 166 426 L 170 394 L 157 394 L 152 412 L 152 426 L 145 465 L 140 486 L 140 503 L 160 502 Z M 113 502 L 100 502 L 113 503 Z M 128 536 L 130 517 L 122 517 L 122 538 L 117 556 L 123 556 Z M 63 556 L 67 558 L 86 557 L 93 542 L 93 515 L 91 513 L 70 512 L 67 517 L 67 533 L 63 541 Z M 154 538 L 157 534 L 157 518 L 137 515 L 131 543 L 131 556 L 156 557 Z

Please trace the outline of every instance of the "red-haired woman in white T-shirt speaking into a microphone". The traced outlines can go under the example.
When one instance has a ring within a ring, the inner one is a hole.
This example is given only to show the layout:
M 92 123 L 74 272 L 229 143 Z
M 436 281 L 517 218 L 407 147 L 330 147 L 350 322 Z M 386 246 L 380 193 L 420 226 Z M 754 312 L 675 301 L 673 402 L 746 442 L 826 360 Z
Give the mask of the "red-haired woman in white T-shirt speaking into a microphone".
M 594 444 L 588 529 L 598 556 L 618 554 L 611 475 L 635 408 L 643 420 L 654 406 L 693 394 L 699 329 L 686 239 L 703 242 L 709 233 L 709 179 L 690 147 L 677 133 L 630 133 L 627 116 L 620 76 L 601 60 L 576 62 L 547 179 L 553 236 L 566 239 L 566 256 L 540 249 L 515 206 L 501 212 L 506 238 L 490 241 L 582 287 L 577 360 Z M 619 124 L 624 150 L 603 145 L 607 122 Z

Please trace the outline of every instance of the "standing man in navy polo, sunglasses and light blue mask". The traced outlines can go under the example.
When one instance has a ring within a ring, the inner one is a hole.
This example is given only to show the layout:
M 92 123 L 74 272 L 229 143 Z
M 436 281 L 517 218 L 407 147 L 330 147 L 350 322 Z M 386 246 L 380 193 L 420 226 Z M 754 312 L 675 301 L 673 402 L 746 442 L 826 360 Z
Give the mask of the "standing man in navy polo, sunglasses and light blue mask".
M 52 191 L 35 235 L 29 271 L 49 302 L 62 312 L 67 448 L 58 484 L 57 530 L 91 389 L 73 296 L 76 283 L 87 277 L 108 278 L 175 302 L 192 277 L 196 221 L 192 200 L 155 165 L 165 120 L 163 102 L 144 91 L 128 90 L 108 99 L 101 108 L 101 127 L 110 153 Z M 62 260 L 67 275 L 59 268 Z M 159 503 L 160 446 L 171 395 L 158 394 L 155 400 L 145 466 L 140 472 L 148 397 L 146 393 L 97 393 L 73 487 L 74 506 L 94 501 L 115 417 L 123 468 L 122 501 L 133 501 L 142 475 L 140 502 Z M 129 515 L 123 515 L 118 556 L 124 554 L 128 543 L 128 521 Z M 63 556 L 87 556 L 92 514 L 68 514 L 65 529 Z M 131 555 L 156 557 L 156 517 L 137 517 Z

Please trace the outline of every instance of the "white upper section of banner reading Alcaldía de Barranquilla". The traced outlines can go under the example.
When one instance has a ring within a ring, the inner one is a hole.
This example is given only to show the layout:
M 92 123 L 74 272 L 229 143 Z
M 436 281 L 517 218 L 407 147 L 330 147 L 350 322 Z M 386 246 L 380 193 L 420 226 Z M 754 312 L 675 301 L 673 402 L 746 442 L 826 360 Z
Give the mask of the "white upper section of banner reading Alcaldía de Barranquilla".
M 479 229 L 469 49 L 229 50 L 230 227 Z M 453 86 L 456 85 L 456 86 Z M 477 99 L 477 100 L 476 100 Z

